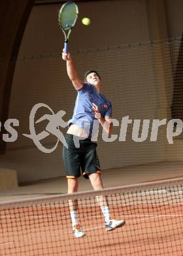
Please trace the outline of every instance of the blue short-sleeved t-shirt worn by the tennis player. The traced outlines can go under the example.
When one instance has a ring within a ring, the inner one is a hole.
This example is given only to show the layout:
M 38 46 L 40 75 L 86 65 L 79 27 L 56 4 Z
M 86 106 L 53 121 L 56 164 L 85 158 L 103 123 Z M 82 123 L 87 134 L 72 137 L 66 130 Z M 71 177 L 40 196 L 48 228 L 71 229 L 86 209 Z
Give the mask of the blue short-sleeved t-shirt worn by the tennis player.
M 95 119 L 92 103 L 98 106 L 102 117 L 112 116 L 112 105 L 107 98 L 99 94 L 90 83 L 83 83 L 83 87 L 78 90 L 73 117 L 69 120 L 69 125 L 75 123 L 82 127 L 88 137 L 92 136 L 93 121 Z

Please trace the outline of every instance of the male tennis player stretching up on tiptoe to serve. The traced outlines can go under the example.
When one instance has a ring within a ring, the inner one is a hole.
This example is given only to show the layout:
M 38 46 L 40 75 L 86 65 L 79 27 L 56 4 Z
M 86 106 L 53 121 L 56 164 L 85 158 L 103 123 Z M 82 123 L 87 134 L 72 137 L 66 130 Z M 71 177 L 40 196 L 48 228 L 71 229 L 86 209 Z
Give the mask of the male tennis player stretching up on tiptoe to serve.
M 82 83 L 76 74 L 71 54 L 66 54 L 63 51 L 62 58 L 67 62 L 67 74 L 78 92 L 73 117 L 69 120 L 69 129 L 65 136 L 68 148 L 63 146 L 68 193 L 77 192 L 80 169 L 84 178 L 90 179 L 93 189 L 99 190 L 103 188 L 103 183 L 96 152 L 97 143 L 91 140 L 93 123 L 98 120 L 107 133 L 112 133 L 112 106 L 107 98 L 101 95 L 101 77 L 96 71 L 87 72 L 84 75 L 86 82 Z M 79 142 L 78 146 L 76 141 Z M 98 196 L 97 202 L 105 217 L 105 226 L 108 231 L 125 224 L 124 220 L 116 221 L 110 217 L 105 196 Z M 85 236 L 85 232 L 77 220 L 77 201 L 70 201 L 69 207 L 76 238 Z

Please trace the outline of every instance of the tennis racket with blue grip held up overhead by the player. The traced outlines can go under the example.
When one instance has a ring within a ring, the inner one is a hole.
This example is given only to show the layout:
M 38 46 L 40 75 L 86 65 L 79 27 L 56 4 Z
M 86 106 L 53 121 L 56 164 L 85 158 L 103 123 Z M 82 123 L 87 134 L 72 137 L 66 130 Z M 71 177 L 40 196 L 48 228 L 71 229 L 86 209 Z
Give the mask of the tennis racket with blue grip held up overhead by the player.
M 64 37 L 65 37 L 65 43 L 64 43 L 65 53 L 67 53 L 69 36 L 71 34 L 71 30 L 73 26 L 75 26 L 76 24 L 77 18 L 78 18 L 78 7 L 75 2 L 69 1 L 64 5 L 62 5 L 61 9 L 59 10 L 58 22 L 59 22 L 59 27 L 63 31 Z M 66 35 L 66 32 L 68 30 L 69 32 Z

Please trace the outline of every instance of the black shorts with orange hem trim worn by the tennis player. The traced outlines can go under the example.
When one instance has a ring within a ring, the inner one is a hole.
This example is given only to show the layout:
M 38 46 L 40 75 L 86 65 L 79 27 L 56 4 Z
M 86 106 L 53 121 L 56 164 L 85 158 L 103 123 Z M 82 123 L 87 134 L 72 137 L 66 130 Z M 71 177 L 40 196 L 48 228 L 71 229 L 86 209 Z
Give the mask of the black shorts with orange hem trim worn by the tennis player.
M 74 137 L 79 141 L 78 147 L 75 146 Z M 67 178 L 80 177 L 81 171 L 86 179 L 89 179 L 90 173 L 101 173 L 96 152 L 97 143 L 68 133 L 65 135 L 65 140 L 68 148 L 63 146 L 62 156 Z

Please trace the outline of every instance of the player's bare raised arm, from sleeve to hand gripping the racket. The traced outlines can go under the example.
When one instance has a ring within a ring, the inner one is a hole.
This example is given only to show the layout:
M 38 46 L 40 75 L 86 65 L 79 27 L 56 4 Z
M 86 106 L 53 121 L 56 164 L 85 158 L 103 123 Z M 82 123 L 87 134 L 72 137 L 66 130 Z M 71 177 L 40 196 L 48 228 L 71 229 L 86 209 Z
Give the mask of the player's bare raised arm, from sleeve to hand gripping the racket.
M 64 51 L 63 51 L 62 58 L 63 58 L 63 60 L 65 60 L 67 62 L 67 74 L 69 76 L 69 79 L 73 83 L 75 89 L 76 90 L 81 89 L 82 82 L 80 81 L 80 79 L 78 78 L 78 75 L 76 73 L 75 65 L 74 65 L 73 59 L 71 58 L 71 54 L 64 53 Z

